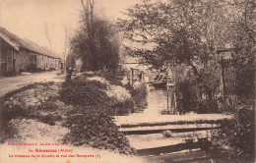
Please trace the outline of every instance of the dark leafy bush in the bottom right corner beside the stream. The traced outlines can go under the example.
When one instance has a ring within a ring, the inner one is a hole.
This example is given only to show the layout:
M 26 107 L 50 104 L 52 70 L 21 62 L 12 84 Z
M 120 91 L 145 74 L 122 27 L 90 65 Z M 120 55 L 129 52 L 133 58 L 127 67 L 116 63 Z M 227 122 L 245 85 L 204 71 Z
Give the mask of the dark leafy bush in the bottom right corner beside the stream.
M 255 159 L 255 112 L 253 106 L 240 105 L 231 121 L 224 121 L 213 136 L 218 147 L 228 146 L 229 156 L 240 162 L 254 162 Z

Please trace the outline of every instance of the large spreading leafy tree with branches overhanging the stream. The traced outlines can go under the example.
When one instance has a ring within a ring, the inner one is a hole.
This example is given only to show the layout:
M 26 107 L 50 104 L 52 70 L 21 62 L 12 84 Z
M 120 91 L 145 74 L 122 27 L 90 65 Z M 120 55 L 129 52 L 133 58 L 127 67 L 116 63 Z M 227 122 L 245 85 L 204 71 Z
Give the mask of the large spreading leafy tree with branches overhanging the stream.
M 190 67 L 195 80 L 211 97 L 212 91 L 207 74 L 215 70 L 210 61 L 217 61 L 216 50 L 226 41 L 225 28 L 228 15 L 221 0 L 142 0 L 128 9 L 125 20 L 119 26 L 127 39 L 143 44 L 155 43 L 153 50 L 136 49 L 134 54 L 145 62 L 160 68 L 173 60 Z

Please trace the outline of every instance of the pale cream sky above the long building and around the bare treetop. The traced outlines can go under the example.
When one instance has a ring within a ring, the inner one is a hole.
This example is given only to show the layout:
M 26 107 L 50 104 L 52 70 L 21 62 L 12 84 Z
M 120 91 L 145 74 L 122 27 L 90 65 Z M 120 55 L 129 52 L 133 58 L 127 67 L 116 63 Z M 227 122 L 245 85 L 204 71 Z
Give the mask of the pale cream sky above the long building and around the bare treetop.
M 138 0 L 95 1 L 96 12 L 115 21 L 123 17 L 120 11 Z M 45 32 L 47 26 L 52 39 L 51 50 L 63 56 L 65 27 L 74 30 L 79 26 L 82 9 L 81 0 L 0 0 L 0 27 L 49 48 Z

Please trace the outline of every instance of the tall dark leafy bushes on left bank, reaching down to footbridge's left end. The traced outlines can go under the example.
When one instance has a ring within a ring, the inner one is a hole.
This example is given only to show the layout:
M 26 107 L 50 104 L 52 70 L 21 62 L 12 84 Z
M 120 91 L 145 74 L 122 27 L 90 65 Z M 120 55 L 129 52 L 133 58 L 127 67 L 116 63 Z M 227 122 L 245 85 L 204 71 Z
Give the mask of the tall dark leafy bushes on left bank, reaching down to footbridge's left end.
M 64 137 L 66 142 L 75 145 L 89 144 L 101 149 L 115 150 L 123 154 L 133 153 L 128 140 L 118 132 L 113 115 L 124 114 L 131 101 L 117 101 L 103 91 L 106 85 L 99 81 L 77 78 L 65 81 L 60 90 L 60 99 L 73 105 L 65 126 L 71 132 Z

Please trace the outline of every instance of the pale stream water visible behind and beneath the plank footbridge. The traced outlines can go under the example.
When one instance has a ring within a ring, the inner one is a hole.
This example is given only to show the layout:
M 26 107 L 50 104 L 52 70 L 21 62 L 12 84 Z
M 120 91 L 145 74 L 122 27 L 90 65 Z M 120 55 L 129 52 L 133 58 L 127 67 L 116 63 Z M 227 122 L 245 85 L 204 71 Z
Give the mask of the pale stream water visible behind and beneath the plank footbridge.
M 156 119 L 161 115 L 161 112 L 167 108 L 167 95 L 166 95 L 166 90 L 164 89 L 155 89 L 148 91 L 148 94 L 146 96 L 146 99 L 144 100 L 146 105 L 144 105 L 143 108 L 139 108 L 135 110 L 134 113 L 131 113 L 129 117 L 138 119 L 138 116 L 140 118 L 147 118 L 147 119 Z M 173 115 L 174 116 L 174 115 Z M 181 135 L 182 134 L 176 134 L 176 135 Z M 152 138 L 154 136 L 157 136 L 155 138 Z M 129 139 L 136 144 L 138 141 L 138 145 L 142 144 L 143 141 L 145 141 L 145 144 L 152 144 L 152 143 L 160 143 L 160 138 L 162 137 L 161 134 L 154 134 L 154 135 L 130 135 L 127 136 Z M 147 142 L 146 139 L 151 139 L 150 141 L 152 142 Z M 154 141 L 155 139 L 155 141 Z M 157 141 L 156 141 L 157 140 Z M 171 141 L 174 141 L 175 138 L 171 138 Z M 167 142 L 166 142 L 167 143 Z M 140 146 L 140 145 L 139 145 Z M 137 146 L 138 147 L 138 146 Z M 176 146 L 173 146 L 176 148 Z M 167 147 L 166 147 L 167 149 Z M 151 149 L 149 149 L 150 151 Z M 161 148 L 160 148 L 161 150 Z M 164 149 L 165 150 L 165 149 Z M 146 150 L 146 152 L 149 152 Z M 169 154 L 163 154 L 161 155 L 162 151 L 159 151 L 159 156 L 146 156 L 144 157 L 147 162 L 194 162 L 194 163 L 211 163 L 212 159 L 209 153 L 206 150 L 196 150 L 196 151 L 185 151 L 185 152 L 180 152 L 180 153 L 169 153 Z M 186 159 L 184 159 L 186 158 Z

